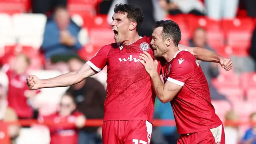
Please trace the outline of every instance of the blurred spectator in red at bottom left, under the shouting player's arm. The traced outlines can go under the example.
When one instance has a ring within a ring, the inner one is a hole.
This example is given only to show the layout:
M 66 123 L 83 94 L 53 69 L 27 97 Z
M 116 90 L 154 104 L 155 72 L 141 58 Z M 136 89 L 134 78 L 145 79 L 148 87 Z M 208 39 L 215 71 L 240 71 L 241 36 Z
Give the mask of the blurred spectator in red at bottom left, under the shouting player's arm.
M 84 127 L 86 118 L 76 110 L 73 97 L 65 94 L 60 100 L 60 110 L 41 118 L 41 120 L 56 123 L 56 125 L 49 125 L 50 144 L 77 144 L 78 129 Z M 67 124 L 60 125 L 58 123 Z

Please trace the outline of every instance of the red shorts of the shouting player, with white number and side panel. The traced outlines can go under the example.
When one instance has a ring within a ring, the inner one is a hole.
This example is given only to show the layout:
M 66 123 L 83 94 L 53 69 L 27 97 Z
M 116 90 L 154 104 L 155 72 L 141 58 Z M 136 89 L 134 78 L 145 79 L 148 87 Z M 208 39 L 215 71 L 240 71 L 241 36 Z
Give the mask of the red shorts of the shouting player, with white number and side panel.
M 152 124 L 147 120 L 110 120 L 102 124 L 103 144 L 150 144 Z

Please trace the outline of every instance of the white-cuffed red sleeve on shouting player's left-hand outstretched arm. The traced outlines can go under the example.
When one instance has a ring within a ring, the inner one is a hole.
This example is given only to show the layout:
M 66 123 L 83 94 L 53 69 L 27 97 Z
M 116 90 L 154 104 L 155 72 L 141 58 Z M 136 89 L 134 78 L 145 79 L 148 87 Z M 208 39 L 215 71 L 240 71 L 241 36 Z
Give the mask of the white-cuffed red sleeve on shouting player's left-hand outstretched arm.
M 107 63 L 107 55 L 110 50 L 111 46 L 106 45 L 100 48 L 100 50 L 95 54 L 95 56 L 86 62 L 92 69 L 97 72 L 100 72 Z

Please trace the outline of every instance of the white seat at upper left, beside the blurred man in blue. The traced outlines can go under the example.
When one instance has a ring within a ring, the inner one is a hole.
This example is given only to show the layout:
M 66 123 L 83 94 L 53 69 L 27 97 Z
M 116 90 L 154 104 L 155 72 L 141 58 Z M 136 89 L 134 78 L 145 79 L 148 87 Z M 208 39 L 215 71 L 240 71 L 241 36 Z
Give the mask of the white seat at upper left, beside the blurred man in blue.
M 42 37 L 46 24 L 44 14 L 14 14 L 14 31 L 18 38 L 22 36 Z

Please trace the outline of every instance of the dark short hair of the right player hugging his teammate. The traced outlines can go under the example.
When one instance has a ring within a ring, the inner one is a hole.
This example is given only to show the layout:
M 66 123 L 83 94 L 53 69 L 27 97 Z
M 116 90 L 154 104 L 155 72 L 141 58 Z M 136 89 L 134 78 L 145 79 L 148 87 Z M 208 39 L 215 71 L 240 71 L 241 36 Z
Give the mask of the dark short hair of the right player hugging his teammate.
M 180 27 L 176 22 L 172 20 L 160 20 L 155 22 L 153 29 L 163 27 L 163 30 L 161 32 L 161 36 L 163 37 L 163 40 L 166 38 L 172 39 L 175 46 L 178 46 L 180 40 L 181 40 L 181 32 Z

